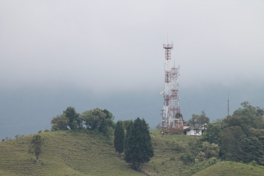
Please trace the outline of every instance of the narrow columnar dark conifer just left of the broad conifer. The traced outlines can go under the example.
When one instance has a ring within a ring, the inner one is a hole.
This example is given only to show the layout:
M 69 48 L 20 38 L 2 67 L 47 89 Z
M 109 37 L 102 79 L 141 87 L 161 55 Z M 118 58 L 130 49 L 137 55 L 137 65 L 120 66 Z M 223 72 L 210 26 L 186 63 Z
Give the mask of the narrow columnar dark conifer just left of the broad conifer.
M 123 153 L 124 151 L 124 140 L 125 140 L 124 126 L 123 126 L 123 122 L 119 120 L 116 122 L 115 139 L 114 139 L 115 150 L 118 152 L 118 157 L 120 157 L 121 153 Z

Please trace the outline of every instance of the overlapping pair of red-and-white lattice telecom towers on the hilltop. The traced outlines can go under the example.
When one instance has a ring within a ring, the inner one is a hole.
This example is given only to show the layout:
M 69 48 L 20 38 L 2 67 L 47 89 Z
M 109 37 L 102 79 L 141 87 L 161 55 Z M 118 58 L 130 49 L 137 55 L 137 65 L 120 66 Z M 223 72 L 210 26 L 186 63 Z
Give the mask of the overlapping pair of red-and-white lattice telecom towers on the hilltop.
M 164 82 L 164 108 L 162 110 L 162 131 L 177 132 L 183 134 L 183 124 L 181 117 L 181 110 L 179 105 L 179 84 L 178 76 L 179 69 L 175 68 L 175 65 L 171 67 L 171 50 L 173 49 L 173 43 L 163 44 L 165 49 L 165 82 Z

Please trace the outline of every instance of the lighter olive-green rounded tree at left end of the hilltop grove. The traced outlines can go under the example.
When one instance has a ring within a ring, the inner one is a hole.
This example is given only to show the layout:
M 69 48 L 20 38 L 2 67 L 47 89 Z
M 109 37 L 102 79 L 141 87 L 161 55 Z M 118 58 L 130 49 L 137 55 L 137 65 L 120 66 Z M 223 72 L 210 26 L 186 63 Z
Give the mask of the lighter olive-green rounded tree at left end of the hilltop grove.
M 68 118 L 65 116 L 65 114 L 57 115 L 56 117 L 53 117 L 51 122 L 53 124 L 52 131 L 56 130 L 68 130 Z

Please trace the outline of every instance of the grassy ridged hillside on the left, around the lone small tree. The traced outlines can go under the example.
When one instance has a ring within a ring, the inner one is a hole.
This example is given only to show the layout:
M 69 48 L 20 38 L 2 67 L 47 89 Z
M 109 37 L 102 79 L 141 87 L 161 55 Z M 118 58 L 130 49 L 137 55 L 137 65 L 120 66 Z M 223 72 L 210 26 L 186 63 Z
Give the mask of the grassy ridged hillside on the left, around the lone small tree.
M 0 142 L 0 175 L 144 175 L 118 158 L 103 136 L 69 131 L 40 135 L 45 145 L 39 163 L 28 153 L 32 135 Z

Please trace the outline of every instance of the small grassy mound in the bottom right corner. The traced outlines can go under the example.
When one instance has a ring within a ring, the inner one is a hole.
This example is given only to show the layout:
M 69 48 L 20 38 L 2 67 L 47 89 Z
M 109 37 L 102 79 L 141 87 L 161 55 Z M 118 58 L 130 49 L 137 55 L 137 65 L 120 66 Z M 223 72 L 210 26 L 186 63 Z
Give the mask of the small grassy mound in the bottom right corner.
M 257 175 L 264 175 L 264 166 L 251 166 L 247 164 L 242 163 L 236 163 L 236 162 L 219 162 L 216 163 L 204 170 L 201 170 L 200 172 L 197 172 L 196 174 L 193 174 L 193 176 L 222 176 L 222 175 L 239 175 L 239 176 L 257 176 Z

